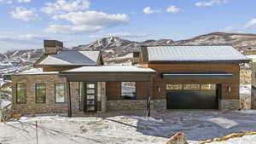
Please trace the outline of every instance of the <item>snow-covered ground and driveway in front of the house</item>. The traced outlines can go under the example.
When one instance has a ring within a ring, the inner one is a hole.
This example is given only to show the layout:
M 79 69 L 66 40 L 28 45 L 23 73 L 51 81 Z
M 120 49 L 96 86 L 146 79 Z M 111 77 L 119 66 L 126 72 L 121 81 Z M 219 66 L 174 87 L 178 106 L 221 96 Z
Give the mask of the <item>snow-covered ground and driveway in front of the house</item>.
M 190 143 L 222 137 L 235 132 L 256 130 L 256 111 L 144 111 L 108 112 L 95 116 L 66 118 L 59 116 L 23 117 L 19 121 L 0 124 L 0 143 L 32 144 L 36 142 L 35 121 L 38 121 L 38 143 L 115 143 L 165 144 L 178 131 Z M 134 116 L 137 115 L 137 116 Z M 256 143 L 256 135 L 247 135 L 216 144 Z

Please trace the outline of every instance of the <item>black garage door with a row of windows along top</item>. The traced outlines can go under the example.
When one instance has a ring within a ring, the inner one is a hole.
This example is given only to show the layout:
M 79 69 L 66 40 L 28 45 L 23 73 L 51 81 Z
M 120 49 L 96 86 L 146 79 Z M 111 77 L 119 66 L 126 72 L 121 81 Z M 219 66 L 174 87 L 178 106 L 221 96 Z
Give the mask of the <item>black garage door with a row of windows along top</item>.
M 218 84 L 167 84 L 167 109 L 218 109 Z

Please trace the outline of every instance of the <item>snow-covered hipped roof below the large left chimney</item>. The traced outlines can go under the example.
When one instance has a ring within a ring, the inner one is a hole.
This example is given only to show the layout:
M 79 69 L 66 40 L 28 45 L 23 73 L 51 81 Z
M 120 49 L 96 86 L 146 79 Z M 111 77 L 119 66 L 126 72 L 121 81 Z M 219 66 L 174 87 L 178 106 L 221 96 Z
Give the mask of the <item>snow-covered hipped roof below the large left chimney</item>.
M 75 51 L 64 50 L 56 55 L 47 55 L 38 65 L 42 66 L 95 66 L 100 56 L 100 51 Z

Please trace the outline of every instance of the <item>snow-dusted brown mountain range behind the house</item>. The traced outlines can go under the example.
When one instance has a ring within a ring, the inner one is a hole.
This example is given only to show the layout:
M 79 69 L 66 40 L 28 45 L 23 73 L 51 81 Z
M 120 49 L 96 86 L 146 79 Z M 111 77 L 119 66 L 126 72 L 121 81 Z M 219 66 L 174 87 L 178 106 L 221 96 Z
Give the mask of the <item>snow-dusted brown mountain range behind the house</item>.
M 232 45 L 239 51 L 248 48 L 256 49 L 256 34 L 213 32 L 185 40 L 172 39 L 146 40 L 135 42 L 119 37 L 104 37 L 96 42 L 75 46 L 74 50 L 101 50 L 105 61 L 120 63 L 129 61 L 132 52 L 138 51 L 141 45 Z M 1 73 L 20 72 L 26 70 L 40 55 L 43 49 L 15 50 L 5 54 L 0 53 Z

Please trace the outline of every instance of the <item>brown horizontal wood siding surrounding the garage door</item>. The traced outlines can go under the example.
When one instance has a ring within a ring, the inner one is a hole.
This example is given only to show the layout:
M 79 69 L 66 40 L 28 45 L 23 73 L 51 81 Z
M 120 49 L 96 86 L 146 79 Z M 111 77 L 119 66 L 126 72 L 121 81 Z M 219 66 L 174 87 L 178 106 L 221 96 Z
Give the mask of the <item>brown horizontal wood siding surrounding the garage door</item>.
M 222 84 L 221 99 L 239 99 L 239 74 L 238 63 L 179 63 L 179 64 L 147 64 L 158 72 L 158 77 L 151 80 L 153 99 L 166 98 L 166 84 Z M 163 79 L 162 72 L 229 72 L 232 78 L 229 79 Z M 231 92 L 228 92 L 228 87 Z M 159 90 L 160 89 L 160 90 Z

